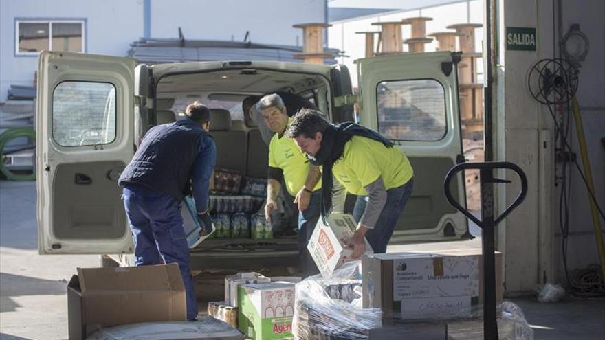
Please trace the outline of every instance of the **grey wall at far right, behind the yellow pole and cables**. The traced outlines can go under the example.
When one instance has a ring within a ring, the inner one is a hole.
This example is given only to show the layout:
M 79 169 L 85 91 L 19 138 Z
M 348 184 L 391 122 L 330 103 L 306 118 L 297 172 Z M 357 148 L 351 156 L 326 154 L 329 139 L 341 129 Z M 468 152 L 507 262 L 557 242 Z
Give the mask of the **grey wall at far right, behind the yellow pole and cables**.
M 559 1 L 555 2 L 558 3 Z M 576 96 L 580 104 L 595 194 L 599 206 L 602 210 L 605 210 L 605 146 L 601 142 L 601 139 L 605 138 L 605 21 L 603 19 L 605 1 L 561 0 L 560 2 L 562 34 L 566 34 L 573 23 L 579 23 L 580 30 L 586 34 L 590 43 L 586 60 L 580 64 Z M 571 49 L 573 49 L 573 45 L 571 45 Z M 571 131 L 569 140 L 577 154 L 580 167 L 582 167 L 575 125 L 571 126 Z M 582 168 L 583 170 L 584 168 Z M 556 199 L 559 196 L 558 192 L 556 190 Z M 571 167 L 571 196 L 569 201 L 571 202 L 571 214 L 567 265 L 569 270 L 572 271 L 573 269 L 583 269 L 588 264 L 599 263 L 588 193 L 575 166 Z M 558 208 L 558 205 L 556 207 Z M 553 221 L 558 224 L 558 216 L 553 218 Z M 605 220 L 602 218 L 601 230 L 602 235 L 605 236 Z M 555 269 L 557 270 L 558 281 L 565 283 L 561 242 L 562 236 L 557 229 L 555 234 Z

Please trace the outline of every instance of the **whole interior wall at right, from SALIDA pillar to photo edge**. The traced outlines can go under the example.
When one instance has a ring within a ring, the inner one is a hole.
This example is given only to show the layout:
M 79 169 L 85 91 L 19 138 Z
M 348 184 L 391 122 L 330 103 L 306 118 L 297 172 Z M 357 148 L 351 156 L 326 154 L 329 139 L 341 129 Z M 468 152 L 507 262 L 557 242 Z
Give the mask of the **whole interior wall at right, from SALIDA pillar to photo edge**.
M 603 79 L 605 78 L 604 3 L 599 0 L 562 0 L 562 32 L 571 23 L 580 23 L 591 39 L 591 52 L 580 69 L 578 99 L 586 141 L 590 150 L 593 177 L 599 204 L 605 205 L 605 137 Z M 553 15 L 553 10 L 555 14 Z M 558 0 L 498 1 L 498 67 L 494 70 L 498 95 L 496 109 L 496 159 L 517 163 L 527 174 L 529 190 L 525 202 L 498 227 L 498 248 L 505 250 L 507 293 L 529 292 L 542 282 L 564 282 L 558 194 L 555 186 L 555 132 L 546 106 L 538 104 L 527 87 L 531 67 L 542 58 L 558 57 Z M 505 48 L 505 27 L 536 27 L 536 52 Z M 555 34 L 555 36 L 553 36 Z M 553 43 L 553 38 L 555 39 Z M 575 126 L 571 126 L 575 131 Z M 577 150 L 575 135 L 570 138 Z M 578 157 L 579 157 L 579 151 Z M 561 164 L 558 164 L 560 170 Z M 595 237 L 584 184 L 575 166 L 571 167 L 569 270 L 598 263 Z M 512 177 L 512 176 L 511 176 Z M 500 190 L 500 211 L 516 197 L 518 188 Z

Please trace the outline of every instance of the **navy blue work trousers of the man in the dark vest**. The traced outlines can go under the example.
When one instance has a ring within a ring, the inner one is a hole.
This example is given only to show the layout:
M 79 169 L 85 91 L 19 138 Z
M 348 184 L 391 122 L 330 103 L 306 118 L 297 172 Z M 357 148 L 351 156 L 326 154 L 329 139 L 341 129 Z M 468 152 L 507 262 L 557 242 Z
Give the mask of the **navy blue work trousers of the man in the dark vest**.
M 123 192 L 135 245 L 135 265 L 179 264 L 186 290 L 187 319 L 195 319 L 197 299 L 179 202 L 143 185 L 126 185 Z

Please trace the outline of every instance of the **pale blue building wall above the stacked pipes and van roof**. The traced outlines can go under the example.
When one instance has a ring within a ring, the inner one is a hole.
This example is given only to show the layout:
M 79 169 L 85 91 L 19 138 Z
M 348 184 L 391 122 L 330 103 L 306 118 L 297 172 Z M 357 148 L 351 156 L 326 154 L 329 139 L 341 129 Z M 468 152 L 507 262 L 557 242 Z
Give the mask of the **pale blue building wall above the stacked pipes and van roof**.
M 250 31 L 253 43 L 303 45 L 296 23 L 325 22 L 325 0 L 151 0 L 151 36 L 243 41 Z

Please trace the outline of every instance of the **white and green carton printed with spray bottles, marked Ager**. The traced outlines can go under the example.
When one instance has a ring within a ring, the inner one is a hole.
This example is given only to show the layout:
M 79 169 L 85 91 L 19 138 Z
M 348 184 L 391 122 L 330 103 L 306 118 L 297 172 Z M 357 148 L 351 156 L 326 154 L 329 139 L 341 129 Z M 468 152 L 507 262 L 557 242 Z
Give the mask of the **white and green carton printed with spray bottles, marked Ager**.
M 252 340 L 292 339 L 294 284 L 239 286 L 238 328 Z

